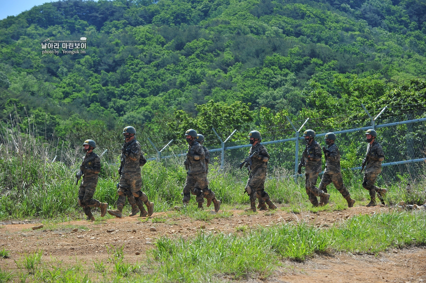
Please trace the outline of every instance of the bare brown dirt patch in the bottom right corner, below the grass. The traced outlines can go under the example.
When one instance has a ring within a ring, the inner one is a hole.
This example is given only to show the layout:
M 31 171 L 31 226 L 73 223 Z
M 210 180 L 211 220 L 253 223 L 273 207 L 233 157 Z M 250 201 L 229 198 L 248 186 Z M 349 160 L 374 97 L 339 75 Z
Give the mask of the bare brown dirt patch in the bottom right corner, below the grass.
M 287 267 L 267 282 L 426 282 L 426 249 L 391 250 L 373 255 L 316 255 Z

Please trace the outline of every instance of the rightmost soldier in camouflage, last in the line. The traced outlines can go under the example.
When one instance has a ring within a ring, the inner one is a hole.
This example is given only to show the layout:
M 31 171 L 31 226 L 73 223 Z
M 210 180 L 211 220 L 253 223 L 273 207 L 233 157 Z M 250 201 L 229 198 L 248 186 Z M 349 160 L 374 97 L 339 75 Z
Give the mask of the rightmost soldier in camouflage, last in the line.
M 385 153 L 383 152 L 382 146 L 376 141 L 377 132 L 374 129 L 366 131 L 367 153 L 366 158 L 363 160 L 362 167 L 365 167 L 363 187 L 370 192 L 370 203 L 367 206 L 376 205 L 376 193 L 381 203 L 384 205 L 385 196 L 387 190 L 381 189 L 374 186 L 376 183 L 377 176 L 382 172 L 382 161 L 385 159 Z M 363 170 L 361 169 L 361 171 Z

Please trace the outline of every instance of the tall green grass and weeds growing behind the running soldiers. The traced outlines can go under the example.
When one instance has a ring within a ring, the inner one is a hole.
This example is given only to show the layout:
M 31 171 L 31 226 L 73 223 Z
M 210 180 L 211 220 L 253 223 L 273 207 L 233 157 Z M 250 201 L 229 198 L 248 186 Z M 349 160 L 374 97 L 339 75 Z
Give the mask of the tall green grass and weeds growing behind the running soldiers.
M 39 155 L 43 155 L 42 152 L 37 152 L 37 150 L 31 154 L 21 156 L 11 154 L 8 158 L 0 160 L 0 172 L 9 176 L 4 185 L 7 185 L 8 189 L 0 187 L 2 192 L 4 191 L 0 194 L 0 220 L 10 218 L 42 218 L 59 221 L 84 219 L 83 211 L 77 204 L 78 186 L 75 186 L 73 178 L 77 165 L 67 166 L 60 162 L 46 163 L 39 157 Z M 23 159 L 22 165 L 20 157 Z M 112 209 L 115 208 L 117 200 L 116 167 L 113 164 L 102 162 L 100 179 L 94 195 L 101 202 L 109 203 L 109 207 Z M 328 192 L 331 194 L 330 206 L 312 208 L 306 196 L 303 178 L 298 178 L 298 183 L 294 183 L 293 178 L 282 178 L 282 174 L 286 173 L 276 170 L 268 175 L 265 182 L 265 190 L 273 202 L 290 204 L 295 213 L 306 210 L 312 212 L 342 210 L 347 207 L 346 200 L 333 185 L 330 185 L 328 186 Z M 361 186 L 362 176 L 352 173 L 348 176 L 345 177 L 345 183 L 348 185 L 352 198 L 357 201 L 355 205 L 367 203 L 368 192 Z M 142 190 L 155 203 L 155 212 L 169 211 L 173 206 L 181 206 L 181 192 L 185 178 L 186 172 L 178 160 L 168 162 L 167 166 L 163 163 L 148 162 L 143 167 Z M 219 171 L 219 164 L 213 163 L 210 166 L 208 178 L 210 189 L 215 192 L 224 207 L 248 207 L 248 195 L 244 194 L 244 186 L 248 178 L 245 171 L 230 166 L 226 166 L 226 170 Z M 407 176 L 400 176 L 400 183 L 387 185 L 389 189 L 386 196 L 387 203 L 399 203 L 404 200 L 406 203 L 422 204 L 426 201 L 423 193 L 425 184 L 422 182 L 413 186 L 412 193 L 406 193 L 407 178 Z M 23 183 L 27 185 L 22 186 Z M 193 204 L 195 204 L 195 196 L 191 196 L 190 206 Z M 127 214 L 129 211 L 130 206 L 127 204 L 124 213 Z M 93 209 L 93 212 L 97 223 L 100 223 L 99 209 Z M 203 212 L 182 213 L 199 220 L 209 220 L 212 217 Z M 107 214 L 103 219 L 110 218 L 112 216 Z

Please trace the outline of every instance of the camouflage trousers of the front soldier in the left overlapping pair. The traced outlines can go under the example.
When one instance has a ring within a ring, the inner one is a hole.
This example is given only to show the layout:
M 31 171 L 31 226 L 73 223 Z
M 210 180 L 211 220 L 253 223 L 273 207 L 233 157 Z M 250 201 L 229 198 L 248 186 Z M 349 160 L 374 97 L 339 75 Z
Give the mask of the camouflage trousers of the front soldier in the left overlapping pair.
M 208 188 L 207 173 L 193 173 L 187 174 L 185 186 L 183 189 L 184 203 L 189 203 L 190 194 L 196 196 L 197 203 L 204 203 L 204 198 L 213 200 L 215 198 L 214 192 Z

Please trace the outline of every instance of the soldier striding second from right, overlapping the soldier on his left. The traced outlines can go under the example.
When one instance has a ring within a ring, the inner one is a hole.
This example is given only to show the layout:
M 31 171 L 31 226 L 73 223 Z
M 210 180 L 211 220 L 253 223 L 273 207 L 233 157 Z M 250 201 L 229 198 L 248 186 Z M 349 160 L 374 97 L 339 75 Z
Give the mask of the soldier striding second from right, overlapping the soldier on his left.
M 340 172 L 340 152 L 339 148 L 334 143 L 336 134 L 333 132 L 327 133 L 324 139 L 328 148 L 325 149 L 325 146 L 322 147 L 322 152 L 324 152 L 325 155 L 325 170 L 318 189 L 327 193 L 327 186 L 333 183 L 336 189 L 348 202 L 348 207 L 353 207 L 355 200 L 351 199 L 351 194 L 349 194 L 348 189 L 346 189 L 343 184 L 342 173 Z M 320 200 L 320 206 L 322 205 L 324 205 L 323 197 L 321 197 Z

